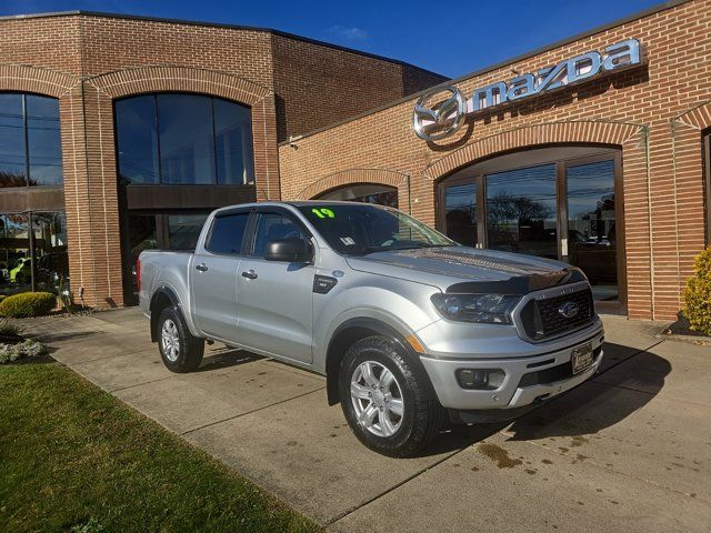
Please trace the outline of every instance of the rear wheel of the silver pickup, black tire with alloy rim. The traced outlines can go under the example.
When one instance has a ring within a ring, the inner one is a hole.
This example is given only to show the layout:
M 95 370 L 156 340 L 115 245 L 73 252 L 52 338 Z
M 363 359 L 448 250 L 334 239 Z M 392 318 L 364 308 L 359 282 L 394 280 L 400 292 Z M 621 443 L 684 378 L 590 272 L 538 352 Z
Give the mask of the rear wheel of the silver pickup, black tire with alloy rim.
M 172 334 L 166 330 L 170 330 Z M 177 345 L 166 341 L 169 336 L 174 336 Z M 166 308 L 158 316 L 158 350 L 163 364 L 171 372 L 192 372 L 202 362 L 204 339 L 192 336 L 178 309 Z

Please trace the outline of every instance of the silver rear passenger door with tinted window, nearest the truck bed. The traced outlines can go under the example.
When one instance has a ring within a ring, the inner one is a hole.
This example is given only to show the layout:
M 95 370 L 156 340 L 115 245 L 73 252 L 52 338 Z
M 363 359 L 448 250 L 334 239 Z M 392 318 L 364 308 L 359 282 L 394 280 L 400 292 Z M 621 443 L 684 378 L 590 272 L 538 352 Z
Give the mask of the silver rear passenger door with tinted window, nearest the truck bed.
M 199 247 L 190 272 L 192 311 L 198 328 L 209 336 L 236 340 L 237 279 L 249 211 L 214 217 L 204 247 Z

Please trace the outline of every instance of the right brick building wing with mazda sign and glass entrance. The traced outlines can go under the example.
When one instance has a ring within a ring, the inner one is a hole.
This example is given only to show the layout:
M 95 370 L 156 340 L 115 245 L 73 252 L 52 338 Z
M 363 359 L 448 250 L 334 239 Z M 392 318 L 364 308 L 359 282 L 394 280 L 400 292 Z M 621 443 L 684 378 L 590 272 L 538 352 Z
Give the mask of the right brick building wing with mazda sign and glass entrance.
M 710 129 L 711 1 L 673 1 L 282 142 L 281 194 L 397 203 L 673 319 L 709 243 Z

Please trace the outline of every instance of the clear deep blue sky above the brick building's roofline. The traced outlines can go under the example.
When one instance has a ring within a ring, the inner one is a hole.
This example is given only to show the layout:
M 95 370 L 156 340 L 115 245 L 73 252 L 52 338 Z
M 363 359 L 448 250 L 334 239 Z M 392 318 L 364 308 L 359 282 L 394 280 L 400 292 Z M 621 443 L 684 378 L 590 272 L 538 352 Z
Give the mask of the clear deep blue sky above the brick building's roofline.
M 273 28 L 458 78 L 659 3 L 0 0 L 0 16 L 86 10 Z

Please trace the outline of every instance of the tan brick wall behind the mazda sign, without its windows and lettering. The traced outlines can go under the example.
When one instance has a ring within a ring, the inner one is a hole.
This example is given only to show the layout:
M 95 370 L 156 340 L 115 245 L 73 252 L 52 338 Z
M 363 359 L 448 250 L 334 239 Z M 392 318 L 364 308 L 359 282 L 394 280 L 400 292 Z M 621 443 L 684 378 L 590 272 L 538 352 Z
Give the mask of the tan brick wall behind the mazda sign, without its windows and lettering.
M 711 100 L 711 1 L 681 3 L 457 86 L 469 95 L 511 79 L 512 68 L 535 71 L 628 38 L 640 39 L 645 67 L 492 110 L 437 144 L 411 130 L 414 99 L 306 137 L 296 148 L 282 144 L 282 198 L 346 184 L 351 169 L 399 172 L 410 177 L 413 214 L 432 223 L 437 183 L 473 161 L 548 143 L 614 144 L 623 160 L 629 314 L 673 319 L 692 258 L 704 245 L 700 169 L 701 130 L 711 125 L 703 107 Z M 691 113 L 697 108 L 702 111 Z

